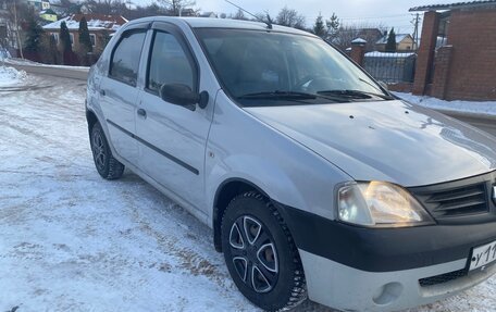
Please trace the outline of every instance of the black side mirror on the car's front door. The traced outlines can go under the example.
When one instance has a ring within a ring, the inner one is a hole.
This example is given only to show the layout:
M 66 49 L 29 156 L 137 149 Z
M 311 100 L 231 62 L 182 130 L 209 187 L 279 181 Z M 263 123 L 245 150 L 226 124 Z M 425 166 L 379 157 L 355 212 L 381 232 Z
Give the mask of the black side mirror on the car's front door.
M 209 102 L 209 93 L 207 91 L 198 95 L 183 84 L 162 85 L 160 87 L 160 98 L 166 102 L 190 109 L 191 111 L 195 110 L 197 103 L 201 109 L 204 109 Z

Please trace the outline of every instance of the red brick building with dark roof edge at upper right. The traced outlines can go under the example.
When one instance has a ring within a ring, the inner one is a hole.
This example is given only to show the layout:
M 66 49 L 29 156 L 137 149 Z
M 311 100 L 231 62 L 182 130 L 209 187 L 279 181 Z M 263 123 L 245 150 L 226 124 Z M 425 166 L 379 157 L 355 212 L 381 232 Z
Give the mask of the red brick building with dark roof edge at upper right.
M 413 93 L 496 100 L 496 0 L 410 11 L 425 12 Z

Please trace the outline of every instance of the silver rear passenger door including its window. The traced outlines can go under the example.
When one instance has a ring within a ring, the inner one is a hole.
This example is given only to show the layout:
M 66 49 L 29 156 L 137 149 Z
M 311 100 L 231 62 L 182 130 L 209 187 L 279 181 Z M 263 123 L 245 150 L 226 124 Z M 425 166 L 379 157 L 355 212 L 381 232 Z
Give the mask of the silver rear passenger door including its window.
M 139 59 L 147 35 L 147 25 L 121 34 L 112 50 L 109 72 L 100 84 L 100 104 L 109 127 L 109 140 L 116 153 L 136 164 L 138 146 L 136 133 L 136 101 Z

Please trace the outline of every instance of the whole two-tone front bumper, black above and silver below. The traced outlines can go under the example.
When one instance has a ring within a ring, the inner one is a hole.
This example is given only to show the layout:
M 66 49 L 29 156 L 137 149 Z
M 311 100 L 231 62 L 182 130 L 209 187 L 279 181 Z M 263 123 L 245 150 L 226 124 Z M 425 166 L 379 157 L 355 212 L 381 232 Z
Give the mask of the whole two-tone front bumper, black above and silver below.
M 309 298 L 345 311 L 396 311 L 470 288 L 496 264 L 468 272 L 496 223 L 363 228 L 278 204 L 299 249 Z

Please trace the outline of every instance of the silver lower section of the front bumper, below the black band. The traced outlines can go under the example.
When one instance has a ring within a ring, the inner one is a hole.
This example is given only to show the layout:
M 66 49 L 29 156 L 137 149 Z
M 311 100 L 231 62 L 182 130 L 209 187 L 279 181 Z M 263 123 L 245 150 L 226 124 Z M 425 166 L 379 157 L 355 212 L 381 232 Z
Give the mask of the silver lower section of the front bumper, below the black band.
M 496 265 L 450 282 L 422 287 L 421 278 L 462 270 L 467 259 L 392 272 L 365 272 L 299 250 L 309 298 L 343 311 L 397 311 L 431 303 L 484 282 Z

